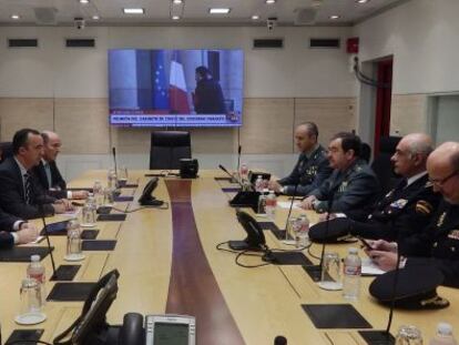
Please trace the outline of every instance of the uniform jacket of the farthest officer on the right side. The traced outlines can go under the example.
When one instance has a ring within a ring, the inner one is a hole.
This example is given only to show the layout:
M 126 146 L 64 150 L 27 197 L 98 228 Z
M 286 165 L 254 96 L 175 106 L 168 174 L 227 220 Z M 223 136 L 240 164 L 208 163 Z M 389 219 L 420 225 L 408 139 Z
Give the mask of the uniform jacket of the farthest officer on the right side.
M 307 195 L 329 177 L 333 169 L 329 166 L 326 152 L 318 146 L 309 158 L 302 153 L 292 173 L 278 181 L 287 195 Z

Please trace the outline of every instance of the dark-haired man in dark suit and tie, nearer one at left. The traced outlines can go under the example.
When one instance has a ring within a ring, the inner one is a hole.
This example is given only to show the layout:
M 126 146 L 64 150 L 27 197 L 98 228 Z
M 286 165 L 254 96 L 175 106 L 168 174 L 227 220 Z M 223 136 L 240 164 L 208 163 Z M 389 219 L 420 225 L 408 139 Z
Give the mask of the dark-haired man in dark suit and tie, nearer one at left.
M 67 200 L 57 201 L 47 195 L 31 172 L 42 156 L 40 133 L 31 129 L 19 130 L 12 145 L 14 155 L 0 164 L 0 206 L 24 220 L 72 210 Z

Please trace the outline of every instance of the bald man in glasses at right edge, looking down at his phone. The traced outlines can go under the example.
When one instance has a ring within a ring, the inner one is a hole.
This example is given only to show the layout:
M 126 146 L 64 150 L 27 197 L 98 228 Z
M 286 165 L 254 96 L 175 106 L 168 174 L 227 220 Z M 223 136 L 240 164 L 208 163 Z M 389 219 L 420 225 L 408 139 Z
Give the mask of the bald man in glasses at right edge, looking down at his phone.
M 398 246 L 382 240 L 371 243 L 368 255 L 382 270 L 394 270 L 397 250 L 401 266 L 434 263 L 445 275 L 443 285 L 459 287 L 459 143 L 446 142 L 427 160 L 429 180 L 442 201 L 421 234 L 401 241 Z

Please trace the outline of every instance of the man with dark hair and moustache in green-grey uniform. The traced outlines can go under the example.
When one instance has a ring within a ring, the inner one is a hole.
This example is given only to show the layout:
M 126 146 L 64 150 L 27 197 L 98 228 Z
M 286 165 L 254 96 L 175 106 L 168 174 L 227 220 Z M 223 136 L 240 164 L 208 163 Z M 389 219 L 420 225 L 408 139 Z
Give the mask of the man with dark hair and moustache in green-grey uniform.
M 368 216 L 379 193 L 379 183 L 365 160 L 359 158 L 361 142 L 353 134 L 336 134 L 328 145 L 332 175 L 302 202 L 305 210 L 340 212 L 361 221 Z

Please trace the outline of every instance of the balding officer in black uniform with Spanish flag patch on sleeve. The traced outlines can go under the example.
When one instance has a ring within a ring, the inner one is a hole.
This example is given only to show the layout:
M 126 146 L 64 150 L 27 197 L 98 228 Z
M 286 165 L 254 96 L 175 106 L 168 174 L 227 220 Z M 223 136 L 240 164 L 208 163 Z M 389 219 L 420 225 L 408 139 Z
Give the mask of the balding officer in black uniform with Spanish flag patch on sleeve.
M 431 151 L 431 139 L 426 134 L 412 133 L 400 140 L 391 161 L 402 179 L 377 203 L 368 221 L 349 222 L 353 235 L 396 241 L 422 231 L 441 199 L 434 192 L 426 171 Z

